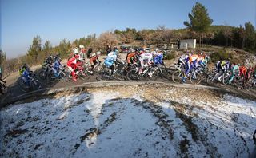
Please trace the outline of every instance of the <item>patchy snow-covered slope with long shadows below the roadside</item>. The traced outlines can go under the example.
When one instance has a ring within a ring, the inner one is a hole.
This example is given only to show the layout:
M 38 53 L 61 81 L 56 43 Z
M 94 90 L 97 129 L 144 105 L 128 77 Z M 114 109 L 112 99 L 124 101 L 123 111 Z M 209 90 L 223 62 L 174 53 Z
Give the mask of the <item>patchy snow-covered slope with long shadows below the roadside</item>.
M 1 157 L 248 157 L 256 102 L 95 91 L 0 111 Z

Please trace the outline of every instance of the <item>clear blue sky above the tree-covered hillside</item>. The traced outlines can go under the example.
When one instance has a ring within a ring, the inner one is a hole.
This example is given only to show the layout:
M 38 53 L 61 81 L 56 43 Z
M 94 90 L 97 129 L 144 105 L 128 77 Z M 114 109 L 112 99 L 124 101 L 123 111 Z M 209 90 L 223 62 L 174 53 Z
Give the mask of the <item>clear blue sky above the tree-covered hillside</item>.
M 89 34 L 126 30 L 185 28 L 196 2 L 206 6 L 213 25 L 256 26 L 256 0 L 0 0 L 0 49 L 8 58 L 26 53 L 37 35 L 55 46 Z

